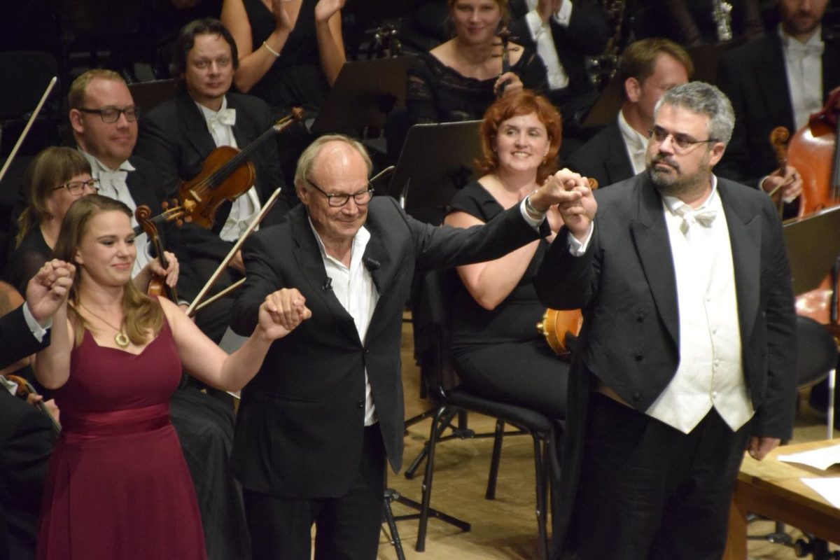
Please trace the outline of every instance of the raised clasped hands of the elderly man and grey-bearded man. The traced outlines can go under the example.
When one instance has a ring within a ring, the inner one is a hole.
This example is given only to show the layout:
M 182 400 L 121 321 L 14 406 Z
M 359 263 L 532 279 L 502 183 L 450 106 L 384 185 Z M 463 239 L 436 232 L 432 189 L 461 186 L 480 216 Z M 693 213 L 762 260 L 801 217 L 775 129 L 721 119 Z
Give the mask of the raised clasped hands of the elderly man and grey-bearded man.
M 568 169 L 559 170 L 528 196 L 539 212 L 556 205 L 569 232 L 580 241 L 586 238 L 598 207 L 589 179 Z

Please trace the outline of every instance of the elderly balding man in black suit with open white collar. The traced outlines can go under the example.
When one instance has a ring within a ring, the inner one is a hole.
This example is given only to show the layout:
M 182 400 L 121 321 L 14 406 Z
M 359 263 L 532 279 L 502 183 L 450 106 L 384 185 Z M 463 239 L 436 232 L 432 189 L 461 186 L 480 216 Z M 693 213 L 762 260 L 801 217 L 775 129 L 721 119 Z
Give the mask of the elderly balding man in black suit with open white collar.
M 550 204 L 576 196 L 561 184 L 582 182 L 559 171 L 485 226 L 434 228 L 371 198 L 370 168 L 355 140 L 316 140 L 295 175 L 302 205 L 244 244 L 234 330 L 252 329 L 276 291 L 282 317 L 311 311 L 242 393 L 232 462 L 255 558 L 308 559 L 313 523 L 316 558 L 376 557 L 386 458 L 402 464 L 400 332 L 415 269 L 528 243 Z

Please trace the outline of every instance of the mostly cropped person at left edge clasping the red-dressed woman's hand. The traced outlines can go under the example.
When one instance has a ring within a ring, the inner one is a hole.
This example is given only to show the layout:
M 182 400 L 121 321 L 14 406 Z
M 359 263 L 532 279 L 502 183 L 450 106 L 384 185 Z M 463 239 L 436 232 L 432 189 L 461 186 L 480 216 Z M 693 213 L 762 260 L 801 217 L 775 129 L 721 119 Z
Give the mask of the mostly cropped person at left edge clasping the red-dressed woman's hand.
M 29 281 L 26 302 L 0 317 L 0 367 L 49 343 L 55 311 L 70 292 L 75 267 L 46 263 Z M 41 491 L 55 432 L 44 413 L 0 385 L 0 558 L 35 556 Z

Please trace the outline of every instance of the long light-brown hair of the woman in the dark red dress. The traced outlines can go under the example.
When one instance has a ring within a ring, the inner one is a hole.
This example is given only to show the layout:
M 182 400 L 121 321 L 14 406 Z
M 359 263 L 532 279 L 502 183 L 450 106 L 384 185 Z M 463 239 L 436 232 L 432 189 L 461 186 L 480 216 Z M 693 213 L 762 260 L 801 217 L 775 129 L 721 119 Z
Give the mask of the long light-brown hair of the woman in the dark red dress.
M 58 241 L 55 243 L 53 256 L 56 259 L 68 263 L 76 262 L 76 251 L 85 237 L 87 229 L 93 217 L 103 212 L 123 212 L 129 218 L 131 210 L 123 202 L 108 198 L 108 196 L 88 195 L 82 196 L 73 202 L 61 222 L 61 232 Z M 70 292 L 71 306 L 68 306 L 67 315 L 76 328 L 76 346 L 81 344 L 84 331 L 94 331 L 84 317 L 81 317 L 76 306 L 79 305 L 79 285 L 84 280 L 84 272 L 80 265 L 76 264 L 76 277 L 73 279 L 73 286 Z M 142 345 L 148 343 L 157 336 L 163 327 L 164 315 L 160 303 L 141 293 L 129 280 L 123 286 L 123 325 L 125 333 L 132 343 Z M 154 333 L 150 336 L 150 332 Z

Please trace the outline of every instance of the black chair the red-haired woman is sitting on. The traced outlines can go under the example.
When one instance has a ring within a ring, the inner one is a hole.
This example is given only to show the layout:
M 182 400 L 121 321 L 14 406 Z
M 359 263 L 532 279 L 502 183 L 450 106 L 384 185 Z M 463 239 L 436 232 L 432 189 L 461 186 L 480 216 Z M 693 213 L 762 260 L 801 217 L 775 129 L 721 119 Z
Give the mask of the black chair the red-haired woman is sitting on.
M 419 288 L 419 299 L 412 306 L 415 317 L 428 319 L 433 326 L 433 341 L 430 348 L 418 356 L 423 383 L 428 396 L 435 401 L 432 427 L 429 432 L 428 461 L 423 478 L 423 498 L 420 509 L 420 525 L 417 531 L 418 552 L 425 549 L 426 529 L 429 516 L 435 516 L 430 507 L 434 474 L 435 447 L 444 429 L 459 412 L 477 412 L 496 418 L 495 443 L 491 460 L 490 477 L 487 481 L 486 499 L 496 495 L 496 475 L 501 458 L 501 442 L 505 424 L 511 424 L 533 438 L 536 515 L 541 558 L 548 558 L 549 536 L 547 528 L 549 461 L 554 453 L 554 422 L 547 416 L 504 402 L 486 399 L 459 387 L 457 372 L 449 356 L 449 297 L 454 293 L 454 282 L 459 281 L 454 270 L 429 272 Z

